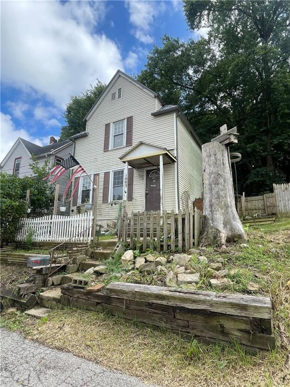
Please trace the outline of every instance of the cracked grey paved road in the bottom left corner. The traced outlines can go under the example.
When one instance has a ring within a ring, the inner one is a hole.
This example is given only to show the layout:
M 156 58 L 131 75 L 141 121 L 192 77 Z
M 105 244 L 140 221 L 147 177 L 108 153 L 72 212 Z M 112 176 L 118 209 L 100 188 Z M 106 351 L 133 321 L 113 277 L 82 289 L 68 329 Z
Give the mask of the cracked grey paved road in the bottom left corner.
M 0 330 L 2 387 L 154 387 Z

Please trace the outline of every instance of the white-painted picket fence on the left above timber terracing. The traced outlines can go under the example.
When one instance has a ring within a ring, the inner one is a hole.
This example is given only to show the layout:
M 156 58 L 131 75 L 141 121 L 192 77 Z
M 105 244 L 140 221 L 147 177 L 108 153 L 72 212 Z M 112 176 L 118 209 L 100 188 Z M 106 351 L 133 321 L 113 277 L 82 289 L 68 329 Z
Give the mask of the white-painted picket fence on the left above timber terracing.
M 82 241 L 90 241 L 92 237 L 93 213 L 87 212 L 75 216 L 48 215 L 41 218 L 22 218 L 22 228 L 16 235 L 16 240 L 25 240 L 29 231 L 33 231 L 35 241 L 59 241 L 67 239 L 85 231 L 81 235 Z

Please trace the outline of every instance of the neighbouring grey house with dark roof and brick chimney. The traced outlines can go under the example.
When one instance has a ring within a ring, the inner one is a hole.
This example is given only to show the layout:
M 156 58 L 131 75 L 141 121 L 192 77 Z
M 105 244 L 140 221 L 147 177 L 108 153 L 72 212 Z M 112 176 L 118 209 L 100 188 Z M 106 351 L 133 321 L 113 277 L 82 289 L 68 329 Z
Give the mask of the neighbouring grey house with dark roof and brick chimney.
M 57 142 L 54 137 L 50 137 L 49 145 L 40 147 L 20 137 L 16 140 L 13 147 L 10 149 L 5 159 L 0 165 L 1 172 L 15 174 L 19 177 L 33 176 L 33 172 L 29 166 L 32 162 L 32 156 L 36 159 L 38 164 L 42 166 L 46 160 L 49 160 L 49 166 L 60 164 L 62 160 L 69 157 L 69 153 L 73 153 L 74 144 L 70 140 Z M 69 179 L 69 171 L 66 171 L 58 180 L 59 184 L 59 196 L 62 196 L 65 185 Z M 62 205 L 61 201 L 58 201 L 59 206 Z

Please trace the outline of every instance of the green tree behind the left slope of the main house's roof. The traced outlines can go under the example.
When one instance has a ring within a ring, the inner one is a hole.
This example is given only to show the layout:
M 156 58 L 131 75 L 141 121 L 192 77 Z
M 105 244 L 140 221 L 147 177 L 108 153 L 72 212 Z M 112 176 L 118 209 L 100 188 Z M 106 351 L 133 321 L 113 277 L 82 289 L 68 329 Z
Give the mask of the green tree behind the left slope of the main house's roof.
M 97 81 L 95 86 L 91 86 L 81 95 L 74 95 L 70 97 L 67 103 L 63 118 L 66 125 L 61 127 L 60 140 L 66 140 L 70 136 L 74 136 L 86 130 L 86 122 L 84 117 L 99 98 L 106 85 Z

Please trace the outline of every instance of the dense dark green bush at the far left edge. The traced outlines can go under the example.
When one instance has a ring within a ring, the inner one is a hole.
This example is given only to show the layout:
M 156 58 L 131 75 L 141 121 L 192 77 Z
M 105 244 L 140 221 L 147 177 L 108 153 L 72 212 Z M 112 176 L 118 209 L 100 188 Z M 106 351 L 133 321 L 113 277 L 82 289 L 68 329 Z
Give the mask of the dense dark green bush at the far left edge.
M 24 181 L 7 173 L 0 173 L 1 184 L 1 245 L 13 242 L 20 228 L 19 219 L 26 213 Z

